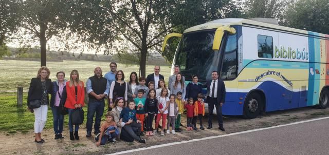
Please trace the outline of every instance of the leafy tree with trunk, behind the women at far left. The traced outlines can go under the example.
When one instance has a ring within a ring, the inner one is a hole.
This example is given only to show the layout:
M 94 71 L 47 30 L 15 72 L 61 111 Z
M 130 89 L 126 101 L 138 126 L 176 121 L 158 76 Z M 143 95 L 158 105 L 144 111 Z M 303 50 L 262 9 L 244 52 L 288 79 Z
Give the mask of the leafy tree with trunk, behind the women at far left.
M 64 33 L 67 26 L 63 16 L 67 6 L 63 1 L 58 0 L 26 0 L 22 2 L 18 14 L 20 28 L 37 38 L 40 42 L 41 66 L 46 66 L 47 41 L 54 35 Z M 21 40 L 26 38 L 21 37 Z

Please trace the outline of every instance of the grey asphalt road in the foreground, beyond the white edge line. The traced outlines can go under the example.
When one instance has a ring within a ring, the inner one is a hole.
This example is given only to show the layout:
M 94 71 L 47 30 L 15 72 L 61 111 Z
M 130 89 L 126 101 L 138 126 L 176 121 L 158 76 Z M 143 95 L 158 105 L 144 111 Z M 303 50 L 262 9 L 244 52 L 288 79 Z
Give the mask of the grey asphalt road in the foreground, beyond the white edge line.
M 125 154 L 329 154 L 329 119 Z

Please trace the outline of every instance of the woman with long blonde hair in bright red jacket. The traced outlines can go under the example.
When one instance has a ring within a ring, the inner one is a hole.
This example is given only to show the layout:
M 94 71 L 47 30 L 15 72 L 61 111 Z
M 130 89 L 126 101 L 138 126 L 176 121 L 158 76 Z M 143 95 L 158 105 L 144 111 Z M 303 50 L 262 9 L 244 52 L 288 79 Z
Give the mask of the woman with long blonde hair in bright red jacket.
M 73 124 L 71 123 L 70 115 L 76 108 L 84 106 L 84 85 L 79 80 L 79 73 L 77 70 L 72 70 L 70 74 L 70 81 L 66 82 L 67 99 L 65 107 L 68 109 L 68 127 L 70 129 L 70 140 L 79 140 L 79 125 L 76 125 L 73 134 Z

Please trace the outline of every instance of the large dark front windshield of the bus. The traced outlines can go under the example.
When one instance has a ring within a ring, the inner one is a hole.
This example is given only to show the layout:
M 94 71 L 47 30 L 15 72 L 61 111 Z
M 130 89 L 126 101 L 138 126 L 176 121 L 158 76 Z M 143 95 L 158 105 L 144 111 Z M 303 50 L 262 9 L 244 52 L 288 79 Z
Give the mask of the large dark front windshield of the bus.
M 219 70 L 220 52 L 212 50 L 216 29 L 184 34 L 176 51 L 174 64 L 186 79 L 197 74 L 199 81 L 211 79 L 211 72 Z

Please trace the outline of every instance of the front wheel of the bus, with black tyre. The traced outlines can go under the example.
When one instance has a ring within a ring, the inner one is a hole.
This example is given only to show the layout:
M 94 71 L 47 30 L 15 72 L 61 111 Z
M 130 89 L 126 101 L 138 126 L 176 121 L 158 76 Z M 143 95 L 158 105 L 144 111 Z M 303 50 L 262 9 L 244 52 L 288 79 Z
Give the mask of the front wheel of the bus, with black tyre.
M 263 101 L 258 93 L 250 93 L 244 103 L 244 114 L 245 119 L 254 119 L 258 117 L 263 107 Z

